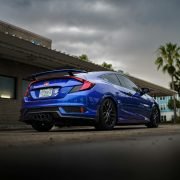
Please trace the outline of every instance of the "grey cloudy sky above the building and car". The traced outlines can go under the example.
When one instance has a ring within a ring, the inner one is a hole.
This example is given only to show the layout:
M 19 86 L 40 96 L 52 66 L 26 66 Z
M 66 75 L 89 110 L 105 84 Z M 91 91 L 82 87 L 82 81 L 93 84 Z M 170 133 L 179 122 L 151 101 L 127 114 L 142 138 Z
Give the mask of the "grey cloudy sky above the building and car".
M 0 20 L 49 37 L 54 49 L 166 87 L 156 50 L 180 40 L 179 0 L 0 0 Z

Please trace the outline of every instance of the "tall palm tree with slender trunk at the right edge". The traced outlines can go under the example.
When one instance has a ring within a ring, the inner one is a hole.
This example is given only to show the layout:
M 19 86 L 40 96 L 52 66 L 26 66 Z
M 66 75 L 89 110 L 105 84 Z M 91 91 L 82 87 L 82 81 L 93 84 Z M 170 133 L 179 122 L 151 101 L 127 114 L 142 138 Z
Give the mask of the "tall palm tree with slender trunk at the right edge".
M 177 72 L 180 66 L 180 47 L 177 44 L 167 43 L 164 46 L 160 46 L 157 51 L 157 59 L 155 60 L 155 64 L 157 65 L 157 69 L 162 69 L 163 73 L 168 73 L 171 77 L 172 89 L 175 90 L 174 79 L 177 76 Z M 174 119 L 173 122 L 176 121 L 176 100 L 175 94 L 173 95 L 173 103 L 174 103 Z

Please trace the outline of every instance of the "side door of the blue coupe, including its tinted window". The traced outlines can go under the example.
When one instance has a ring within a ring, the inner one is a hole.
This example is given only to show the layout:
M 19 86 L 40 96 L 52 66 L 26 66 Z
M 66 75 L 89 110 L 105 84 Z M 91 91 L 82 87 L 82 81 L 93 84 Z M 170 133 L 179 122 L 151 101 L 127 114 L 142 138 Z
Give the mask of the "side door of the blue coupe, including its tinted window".
M 124 95 L 121 101 L 124 110 L 129 114 L 128 119 L 134 123 L 148 120 L 151 102 L 148 101 L 146 95 L 140 94 L 140 89 L 127 77 L 121 74 L 116 75 L 122 85 L 119 91 Z

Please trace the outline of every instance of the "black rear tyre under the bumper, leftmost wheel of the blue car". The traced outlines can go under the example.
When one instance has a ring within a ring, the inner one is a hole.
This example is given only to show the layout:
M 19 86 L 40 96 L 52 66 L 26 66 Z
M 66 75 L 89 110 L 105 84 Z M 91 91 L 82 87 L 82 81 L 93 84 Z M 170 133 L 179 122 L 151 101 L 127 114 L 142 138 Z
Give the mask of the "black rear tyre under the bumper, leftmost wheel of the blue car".
M 31 125 L 37 131 L 47 132 L 54 126 L 54 121 L 50 114 L 37 114 Z

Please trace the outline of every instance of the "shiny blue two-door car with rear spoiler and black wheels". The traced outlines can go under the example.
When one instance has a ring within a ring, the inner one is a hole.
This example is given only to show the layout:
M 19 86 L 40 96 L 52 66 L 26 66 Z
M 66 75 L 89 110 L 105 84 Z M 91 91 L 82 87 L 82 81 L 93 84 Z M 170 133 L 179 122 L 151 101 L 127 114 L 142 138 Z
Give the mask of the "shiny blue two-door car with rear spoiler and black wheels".
M 33 74 L 23 98 L 21 121 L 37 131 L 56 126 L 115 125 L 158 127 L 160 110 L 147 93 L 124 74 L 63 69 Z

